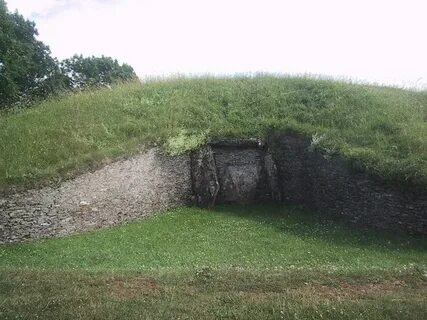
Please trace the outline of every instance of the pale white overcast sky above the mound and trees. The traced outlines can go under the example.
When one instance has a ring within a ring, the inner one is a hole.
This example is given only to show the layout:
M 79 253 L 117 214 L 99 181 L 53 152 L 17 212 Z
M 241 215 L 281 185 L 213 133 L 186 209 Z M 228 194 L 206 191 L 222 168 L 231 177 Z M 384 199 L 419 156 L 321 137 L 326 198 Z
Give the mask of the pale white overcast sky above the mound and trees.
M 427 89 L 426 0 L 6 0 L 52 55 L 144 77 L 268 72 Z

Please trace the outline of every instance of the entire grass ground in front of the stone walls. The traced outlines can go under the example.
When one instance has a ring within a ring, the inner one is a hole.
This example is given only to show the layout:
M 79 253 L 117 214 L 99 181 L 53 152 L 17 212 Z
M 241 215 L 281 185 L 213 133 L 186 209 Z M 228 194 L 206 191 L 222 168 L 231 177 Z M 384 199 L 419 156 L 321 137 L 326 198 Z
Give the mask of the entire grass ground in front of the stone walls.
M 0 246 L 0 318 L 423 319 L 426 248 L 297 207 L 181 208 Z

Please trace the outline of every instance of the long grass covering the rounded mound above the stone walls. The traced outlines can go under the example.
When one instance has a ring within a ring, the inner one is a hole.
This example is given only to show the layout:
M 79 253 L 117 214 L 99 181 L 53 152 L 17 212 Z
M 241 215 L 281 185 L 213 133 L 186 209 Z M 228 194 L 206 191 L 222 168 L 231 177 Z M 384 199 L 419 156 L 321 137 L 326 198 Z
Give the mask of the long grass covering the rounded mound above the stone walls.
M 171 152 L 272 128 L 382 177 L 427 186 L 427 93 L 274 76 L 131 83 L 0 117 L 0 188 L 57 180 L 141 146 Z

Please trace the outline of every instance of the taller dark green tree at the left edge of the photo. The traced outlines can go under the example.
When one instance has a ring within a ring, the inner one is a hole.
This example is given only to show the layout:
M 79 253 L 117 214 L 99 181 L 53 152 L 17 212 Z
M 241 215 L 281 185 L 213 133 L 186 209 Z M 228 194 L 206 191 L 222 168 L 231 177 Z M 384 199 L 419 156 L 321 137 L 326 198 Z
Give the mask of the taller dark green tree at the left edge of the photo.
M 10 13 L 0 0 L 0 109 L 65 86 L 58 62 L 37 35 L 34 22 Z

